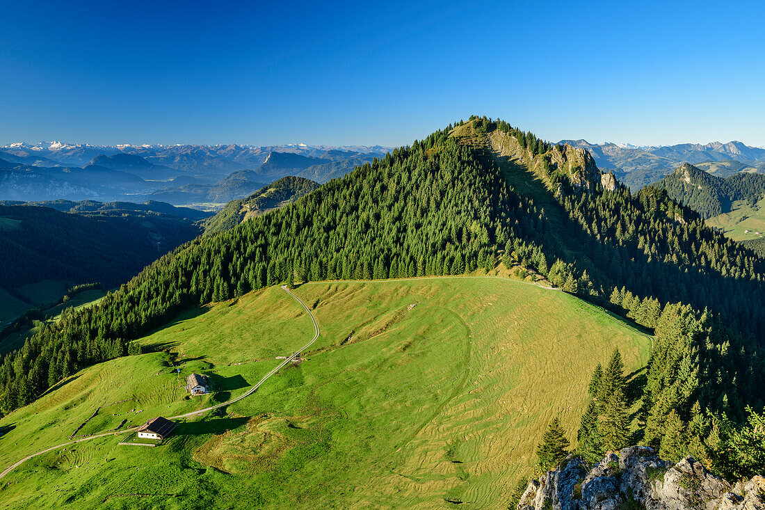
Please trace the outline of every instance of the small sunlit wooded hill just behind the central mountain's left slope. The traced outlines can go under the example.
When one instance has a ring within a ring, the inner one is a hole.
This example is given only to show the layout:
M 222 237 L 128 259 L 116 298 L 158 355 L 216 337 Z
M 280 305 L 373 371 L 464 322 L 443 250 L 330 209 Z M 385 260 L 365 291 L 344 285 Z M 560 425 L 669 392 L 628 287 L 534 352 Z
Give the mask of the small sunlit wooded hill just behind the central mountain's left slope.
M 301 177 L 283 177 L 241 200 L 226 204 L 218 214 L 204 223 L 205 234 L 231 230 L 249 218 L 280 208 L 318 188 L 317 182 Z

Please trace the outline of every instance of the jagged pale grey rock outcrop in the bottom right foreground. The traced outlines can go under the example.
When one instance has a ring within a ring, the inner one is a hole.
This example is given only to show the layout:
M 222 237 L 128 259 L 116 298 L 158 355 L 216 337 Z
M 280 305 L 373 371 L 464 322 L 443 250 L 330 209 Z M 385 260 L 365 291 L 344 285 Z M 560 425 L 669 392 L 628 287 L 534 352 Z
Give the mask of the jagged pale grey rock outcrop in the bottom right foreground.
M 731 487 L 688 456 L 665 462 L 651 448 L 609 453 L 588 468 L 569 456 L 557 469 L 529 482 L 517 510 L 755 510 L 765 509 L 765 478 Z

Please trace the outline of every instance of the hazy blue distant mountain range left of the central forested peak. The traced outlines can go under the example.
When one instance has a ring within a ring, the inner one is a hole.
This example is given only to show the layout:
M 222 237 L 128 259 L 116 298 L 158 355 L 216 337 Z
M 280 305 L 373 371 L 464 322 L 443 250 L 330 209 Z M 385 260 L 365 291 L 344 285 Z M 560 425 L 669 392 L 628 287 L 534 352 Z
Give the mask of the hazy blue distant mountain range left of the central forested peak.
M 379 145 L 14 143 L 0 150 L 0 200 L 224 204 L 288 175 L 326 182 L 387 151 Z

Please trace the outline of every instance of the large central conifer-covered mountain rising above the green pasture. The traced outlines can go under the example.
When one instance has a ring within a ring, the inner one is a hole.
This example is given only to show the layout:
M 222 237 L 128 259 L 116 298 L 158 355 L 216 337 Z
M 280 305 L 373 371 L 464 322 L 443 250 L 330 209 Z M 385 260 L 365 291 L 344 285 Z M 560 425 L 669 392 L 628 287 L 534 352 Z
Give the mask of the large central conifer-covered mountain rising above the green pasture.
M 6 356 L 2 402 L 27 404 L 79 368 L 135 351 L 132 339 L 189 306 L 275 283 L 461 274 L 500 261 L 653 329 L 640 388 L 646 440 L 659 446 L 676 419 L 683 445 L 731 460 L 726 437 L 709 431 L 763 405 L 765 261 L 666 191 L 633 196 L 584 149 L 485 117 L 162 257 Z

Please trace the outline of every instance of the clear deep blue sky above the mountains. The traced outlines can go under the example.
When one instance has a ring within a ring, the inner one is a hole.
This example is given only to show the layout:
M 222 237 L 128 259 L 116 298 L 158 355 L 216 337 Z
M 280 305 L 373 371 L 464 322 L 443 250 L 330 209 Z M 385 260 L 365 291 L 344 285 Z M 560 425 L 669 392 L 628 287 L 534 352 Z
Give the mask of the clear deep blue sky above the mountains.
M 0 0 L 0 143 L 765 145 L 762 5 Z

